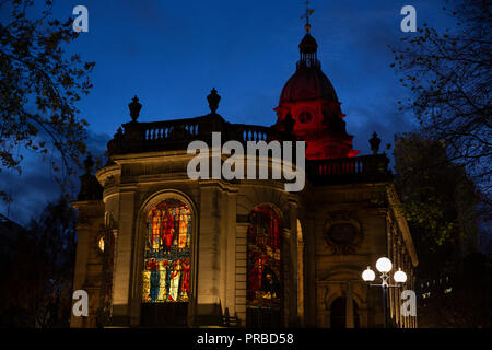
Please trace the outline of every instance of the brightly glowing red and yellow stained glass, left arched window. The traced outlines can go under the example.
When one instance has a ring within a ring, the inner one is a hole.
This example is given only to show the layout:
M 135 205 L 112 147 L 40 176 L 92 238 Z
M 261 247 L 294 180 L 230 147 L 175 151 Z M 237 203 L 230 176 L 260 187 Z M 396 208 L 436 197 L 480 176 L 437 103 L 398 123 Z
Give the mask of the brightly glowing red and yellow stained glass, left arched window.
M 177 199 L 166 199 L 149 211 L 142 302 L 189 300 L 191 212 Z

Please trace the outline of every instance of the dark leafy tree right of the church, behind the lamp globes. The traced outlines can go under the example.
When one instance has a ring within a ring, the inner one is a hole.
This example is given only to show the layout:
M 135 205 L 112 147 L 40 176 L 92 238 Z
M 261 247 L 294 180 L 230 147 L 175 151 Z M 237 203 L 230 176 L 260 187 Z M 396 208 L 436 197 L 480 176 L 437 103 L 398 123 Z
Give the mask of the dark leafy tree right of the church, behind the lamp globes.
M 478 249 L 480 198 L 462 165 L 440 141 L 396 139 L 396 185 L 423 268 L 445 269 Z M 429 259 L 429 260 L 427 260 Z M 437 264 L 433 264 L 437 262 Z

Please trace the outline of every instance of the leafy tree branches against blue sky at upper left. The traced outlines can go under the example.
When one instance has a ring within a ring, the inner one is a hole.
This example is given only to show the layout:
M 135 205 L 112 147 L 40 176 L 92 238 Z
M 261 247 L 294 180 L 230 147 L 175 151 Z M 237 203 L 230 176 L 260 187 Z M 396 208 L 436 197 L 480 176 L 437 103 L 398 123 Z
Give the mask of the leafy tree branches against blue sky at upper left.
M 85 152 L 87 121 L 78 117 L 75 104 L 92 88 L 94 62 L 66 54 L 63 47 L 79 35 L 72 19 L 52 19 L 51 1 L 40 7 L 39 13 L 34 0 L 0 1 L 9 14 L 0 23 L 0 172 L 21 174 L 28 150 L 44 160 L 51 155 L 56 179 L 65 184 Z M 1 188 L 0 195 L 8 197 Z

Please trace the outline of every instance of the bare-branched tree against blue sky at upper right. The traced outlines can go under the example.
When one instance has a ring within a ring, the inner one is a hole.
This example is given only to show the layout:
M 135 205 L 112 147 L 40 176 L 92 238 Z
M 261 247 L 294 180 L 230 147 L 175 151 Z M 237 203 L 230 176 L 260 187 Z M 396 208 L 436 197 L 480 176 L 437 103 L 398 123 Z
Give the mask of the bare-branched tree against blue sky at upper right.
M 393 48 L 400 79 L 412 94 L 399 102 L 421 125 L 423 137 L 446 145 L 452 161 L 465 165 L 480 186 L 482 201 L 491 205 L 491 5 L 484 0 L 461 0 L 452 30 L 423 24 L 415 35 Z

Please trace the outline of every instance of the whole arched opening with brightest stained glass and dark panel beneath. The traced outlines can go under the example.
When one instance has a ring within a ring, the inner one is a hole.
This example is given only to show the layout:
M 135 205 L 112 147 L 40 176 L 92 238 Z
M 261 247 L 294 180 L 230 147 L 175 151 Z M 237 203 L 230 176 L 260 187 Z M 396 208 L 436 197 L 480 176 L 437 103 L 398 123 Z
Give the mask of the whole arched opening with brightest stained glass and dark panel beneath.
M 148 211 L 141 284 L 142 326 L 186 326 L 191 228 L 191 209 L 178 199 L 165 199 Z

